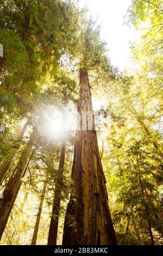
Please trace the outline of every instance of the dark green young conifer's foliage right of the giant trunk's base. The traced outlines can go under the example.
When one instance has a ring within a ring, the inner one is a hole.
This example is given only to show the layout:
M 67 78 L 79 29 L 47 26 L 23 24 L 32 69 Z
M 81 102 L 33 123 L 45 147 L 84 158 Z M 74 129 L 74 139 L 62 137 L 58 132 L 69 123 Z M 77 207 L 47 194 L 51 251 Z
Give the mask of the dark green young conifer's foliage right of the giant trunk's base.
M 120 210 L 116 209 L 112 213 L 116 227 L 120 230 L 121 225 L 126 225 L 127 228 L 128 221 L 132 223 L 132 218 L 135 218 L 135 222 L 140 223 L 139 229 L 143 230 L 141 243 L 144 244 L 151 243 L 147 220 L 162 234 L 161 200 L 158 180 L 155 179 L 155 174 L 161 173 L 160 160 L 158 153 L 155 150 L 151 151 L 150 146 L 150 142 L 144 138 L 142 141 L 133 142 L 133 145 L 126 149 L 122 148 L 123 155 L 118 159 L 120 162 L 114 180 L 120 205 Z M 130 233 L 134 234 L 135 230 L 131 223 L 128 228 Z M 129 244 L 132 244 L 130 238 Z

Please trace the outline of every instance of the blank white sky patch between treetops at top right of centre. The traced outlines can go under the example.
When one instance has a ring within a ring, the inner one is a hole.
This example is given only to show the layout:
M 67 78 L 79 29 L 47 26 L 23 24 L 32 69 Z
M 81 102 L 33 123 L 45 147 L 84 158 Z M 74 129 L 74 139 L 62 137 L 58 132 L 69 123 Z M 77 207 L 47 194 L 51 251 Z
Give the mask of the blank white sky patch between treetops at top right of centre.
M 123 25 L 124 15 L 131 0 L 79 0 L 80 6 L 87 5 L 89 13 L 102 23 L 102 38 L 108 42 L 109 57 L 120 70 L 129 66 L 129 41 L 137 38 L 135 29 Z

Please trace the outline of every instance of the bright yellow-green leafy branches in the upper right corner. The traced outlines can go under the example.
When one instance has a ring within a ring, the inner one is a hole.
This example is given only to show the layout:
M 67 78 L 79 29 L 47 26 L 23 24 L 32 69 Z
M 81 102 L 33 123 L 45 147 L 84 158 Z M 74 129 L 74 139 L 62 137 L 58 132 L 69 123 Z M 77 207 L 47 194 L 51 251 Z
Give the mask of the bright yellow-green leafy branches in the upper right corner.
M 162 0 L 133 0 L 129 22 L 141 31 L 139 44 L 133 46 L 133 53 L 147 71 L 161 78 L 162 74 Z

